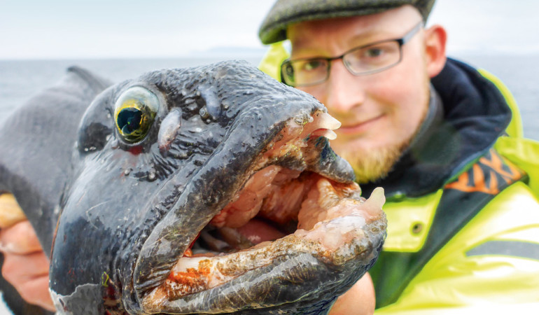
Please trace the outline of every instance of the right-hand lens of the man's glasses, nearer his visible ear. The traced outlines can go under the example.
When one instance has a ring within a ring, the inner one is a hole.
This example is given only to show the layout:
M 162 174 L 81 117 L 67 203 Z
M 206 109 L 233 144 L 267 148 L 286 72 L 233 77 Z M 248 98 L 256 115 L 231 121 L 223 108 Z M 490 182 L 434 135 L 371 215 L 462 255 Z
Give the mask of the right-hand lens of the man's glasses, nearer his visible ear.
M 347 52 L 343 60 L 354 74 L 380 71 L 398 64 L 400 45 L 398 41 L 374 43 Z

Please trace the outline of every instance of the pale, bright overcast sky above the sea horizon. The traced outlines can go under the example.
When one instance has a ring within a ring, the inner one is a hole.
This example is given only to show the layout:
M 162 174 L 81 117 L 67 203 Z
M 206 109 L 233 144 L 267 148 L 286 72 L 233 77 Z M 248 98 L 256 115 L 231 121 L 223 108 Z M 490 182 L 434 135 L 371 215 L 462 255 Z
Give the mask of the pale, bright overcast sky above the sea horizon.
M 263 49 L 274 0 L 0 0 L 0 59 L 189 57 Z M 449 53 L 539 54 L 537 0 L 438 0 Z

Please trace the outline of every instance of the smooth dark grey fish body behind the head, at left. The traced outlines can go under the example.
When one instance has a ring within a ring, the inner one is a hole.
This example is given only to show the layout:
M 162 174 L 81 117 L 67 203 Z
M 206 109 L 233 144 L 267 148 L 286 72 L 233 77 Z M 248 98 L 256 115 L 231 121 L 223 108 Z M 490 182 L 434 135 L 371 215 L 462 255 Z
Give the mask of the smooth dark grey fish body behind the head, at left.
M 80 118 L 109 85 L 73 66 L 61 82 L 1 121 L 0 193 L 15 195 L 37 234 L 43 235 L 43 248 L 52 246 Z

